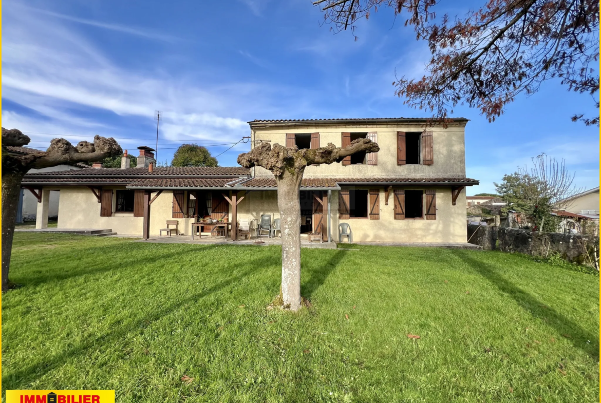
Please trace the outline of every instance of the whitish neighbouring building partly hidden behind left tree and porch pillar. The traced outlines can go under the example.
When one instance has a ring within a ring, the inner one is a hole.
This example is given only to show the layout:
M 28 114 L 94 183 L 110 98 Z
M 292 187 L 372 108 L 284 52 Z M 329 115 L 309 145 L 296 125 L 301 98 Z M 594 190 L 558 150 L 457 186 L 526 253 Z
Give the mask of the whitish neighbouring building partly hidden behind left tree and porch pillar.
M 7 147 L 14 154 L 37 154 L 40 153 L 39 150 L 35 150 L 34 148 L 29 147 Z M 84 169 L 90 168 L 90 166 L 75 163 L 73 165 L 57 165 L 52 166 L 50 168 L 43 169 L 30 169 L 29 173 L 33 174 L 35 172 L 49 172 L 49 171 L 68 171 L 72 169 Z M 56 218 L 58 216 L 58 196 L 59 192 L 52 191 L 50 192 L 50 199 L 48 205 L 48 216 L 50 218 Z M 20 199 L 20 212 L 17 211 L 17 222 L 23 221 L 35 221 L 35 216 L 37 215 L 37 198 L 32 193 L 26 189 L 21 189 L 21 194 L 19 195 Z

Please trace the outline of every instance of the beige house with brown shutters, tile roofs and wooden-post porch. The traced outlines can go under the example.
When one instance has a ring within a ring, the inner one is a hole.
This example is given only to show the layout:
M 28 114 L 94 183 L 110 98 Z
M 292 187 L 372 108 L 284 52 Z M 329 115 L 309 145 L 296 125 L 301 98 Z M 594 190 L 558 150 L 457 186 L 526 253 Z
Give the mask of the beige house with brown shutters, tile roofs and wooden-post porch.
M 254 120 L 249 125 L 252 145 L 344 147 L 361 137 L 380 145 L 378 153 L 307 167 L 300 192 L 302 234 L 338 240 L 338 225 L 348 223 L 353 241 L 465 242 L 465 187 L 478 184 L 465 177 L 468 120 L 424 130 L 427 123 L 426 118 L 370 118 Z M 166 220 L 177 220 L 180 231 L 190 234 L 198 217 L 233 223 L 262 214 L 279 217 L 275 178 L 266 169 L 154 168 L 154 150 L 138 148 L 137 168 L 26 175 L 24 184 L 41 195 L 37 228 L 44 227 L 50 190 L 61 193 L 59 228 L 110 228 L 148 238 L 159 235 Z

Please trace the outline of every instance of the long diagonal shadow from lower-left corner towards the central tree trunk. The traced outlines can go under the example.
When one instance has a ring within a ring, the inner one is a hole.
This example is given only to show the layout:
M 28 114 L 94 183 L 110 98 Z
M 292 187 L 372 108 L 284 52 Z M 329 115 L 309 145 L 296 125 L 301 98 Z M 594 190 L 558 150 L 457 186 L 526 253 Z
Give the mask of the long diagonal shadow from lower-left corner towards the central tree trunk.
M 240 280 L 251 274 L 254 274 L 261 268 L 264 268 L 267 265 L 277 264 L 278 262 L 279 259 L 277 258 L 264 257 L 253 259 L 251 261 L 246 261 L 243 263 L 243 266 L 246 266 L 246 269 L 243 270 L 242 273 L 230 277 L 229 279 L 224 280 L 216 285 L 213 285 L 210 288 L 204 289 L 201 292 L 189 295 L 188 297 L 177 301 L 177 303 L 173 303 L 172 305 L 166 306 L 163 309 L 159 309 L 156 312 L 153 312 L 152 315 L 147 315 L 146 317 L 139 318 L 138 320 L 134 320 L 130 323 L 117 326 L 111 331 L 106 332 L 104 335 L 88 335 L 87 341 L 84 341 L 81 344 L 76 345 L 60 353 L 56 353 L 53 355 L 52 358 L 48 360 L 40 360 L 31 365 L 23 366 L 14 372 L 11 372 L 10 370 L 7 371 L 7 368 L 3 368 L 2 389 L 19 389 L 19 387 L 26 386 L 32 381 L 38 380 L 39 378 L 43 377 L 53 369 L 58 368 L 61 365 L 65 365 L 67 362 L 75 359 L 78 356 L 84 355 L 87 352 L 87 350 L 102 350 L 110 348 L 111 344 L 120 341 L 124 336 L 127 335 L 127 333 L 132 332 L 136 329 L 141 329 L 142 327 L 147 327 L 153 321 L 160 320 L 161 318 L 166 317 L 167 315 L 173 314 L 177 311 L 177 309 L 182 308 L 188 303 L 192 303 L 194 301 L 199 300 L 200 298 L 207 297 L 207 295 L 221 291 L 225 287 L 233 283 L 239 282 Z M 230 268 L 231 270 L 236 270 L 236 268 L 239 268 L 240 266 L 240 262 L 231 262 L 230 264 L 228 264 L 228 268 Z

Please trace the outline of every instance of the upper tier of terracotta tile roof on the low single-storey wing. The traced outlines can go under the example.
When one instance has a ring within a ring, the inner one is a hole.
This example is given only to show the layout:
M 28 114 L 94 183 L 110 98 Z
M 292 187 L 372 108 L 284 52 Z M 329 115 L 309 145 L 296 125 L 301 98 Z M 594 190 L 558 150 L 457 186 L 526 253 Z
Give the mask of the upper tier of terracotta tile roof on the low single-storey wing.
M 61 175 L 97 175 L 103 177 L 114 176 L 186 176 L 186 175 L 227 175 L 231 177 L 248 175 L 249 170 L 241 166 L 169 166 L 163 168 L 155 168 L 153 172 L 148 172 L 148 168 L 87 168 L 78 171 L 52 171 L 52 172 L 35 172 L 29 175 L 44 175 L 44 176 L 61 176 Z

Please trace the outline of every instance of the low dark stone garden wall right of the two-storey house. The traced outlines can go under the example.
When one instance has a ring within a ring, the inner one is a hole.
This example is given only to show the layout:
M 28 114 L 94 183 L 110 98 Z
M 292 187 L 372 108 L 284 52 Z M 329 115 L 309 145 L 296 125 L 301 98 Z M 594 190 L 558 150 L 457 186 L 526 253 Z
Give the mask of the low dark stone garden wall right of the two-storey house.
M 498 244 L 497 244 L 498 241 Z M 555 252 L 570 262 L 587 263 L 585 248 L 591 258 L 599 253 L 599 237 L 590 235 L 559 234 L 557 232 L 532 232 L 526 229 L 468 224 L 468 242 L 483 249 L 502 252 L 519 252 L 547 257 Z M 594 258 L 593 258 L 594 259 Z

